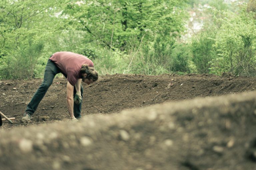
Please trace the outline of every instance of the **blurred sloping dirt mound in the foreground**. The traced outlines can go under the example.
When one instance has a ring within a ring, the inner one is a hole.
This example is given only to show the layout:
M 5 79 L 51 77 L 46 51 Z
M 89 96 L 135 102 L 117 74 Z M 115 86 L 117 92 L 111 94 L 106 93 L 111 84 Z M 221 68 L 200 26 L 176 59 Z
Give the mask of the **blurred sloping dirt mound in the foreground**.
M 256 92 L 0 131 L 0 169 L 255 170 Z

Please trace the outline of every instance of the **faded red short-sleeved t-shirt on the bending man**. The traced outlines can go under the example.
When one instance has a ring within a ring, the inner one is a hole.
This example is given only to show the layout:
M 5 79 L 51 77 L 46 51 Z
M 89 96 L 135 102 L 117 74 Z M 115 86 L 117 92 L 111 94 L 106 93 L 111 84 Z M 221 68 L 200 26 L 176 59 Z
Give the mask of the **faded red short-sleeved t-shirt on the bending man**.
M 80 69 L 83 64 L 94 67 L 93 62 L 89 58 L 73 52 L 56 52 L 50 57 L 50 60 L 60 68 L 62 73 L 67 75 L 67 80 L 72 86 L 76 84 L 78 79 L 82 78 Z

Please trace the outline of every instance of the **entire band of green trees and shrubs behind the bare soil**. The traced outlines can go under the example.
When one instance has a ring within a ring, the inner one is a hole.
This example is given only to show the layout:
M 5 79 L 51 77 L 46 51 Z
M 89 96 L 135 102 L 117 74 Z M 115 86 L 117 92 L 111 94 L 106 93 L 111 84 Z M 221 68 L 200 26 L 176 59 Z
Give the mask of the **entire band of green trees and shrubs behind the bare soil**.
M 100 74 L 255 76 L 255 9 L 255 0 L 1 0 L 0 79 L 42 77 L 57 51 L 88 56 Z

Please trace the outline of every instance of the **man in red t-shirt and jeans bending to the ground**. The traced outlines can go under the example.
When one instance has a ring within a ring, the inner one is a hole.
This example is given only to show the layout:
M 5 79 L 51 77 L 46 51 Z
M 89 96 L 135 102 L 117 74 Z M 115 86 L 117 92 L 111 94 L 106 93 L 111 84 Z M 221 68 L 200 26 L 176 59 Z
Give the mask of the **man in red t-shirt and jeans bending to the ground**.
M 31 116 L 36 111 L 39 103 L 53 82 L 56 74 L 62 73 L 67 83 L 67 107 L 71 120 L 81 118 L 83 86 L 98 80 L 98 72 L 94 69 L 93 62 L 81 54 L 73 52 L 56 52 L 49 59 L 44 71 L 44 80 L 27 105 L 21 122 L 30 122 Z M 74 104 L 75 103 L 75 104 Z

